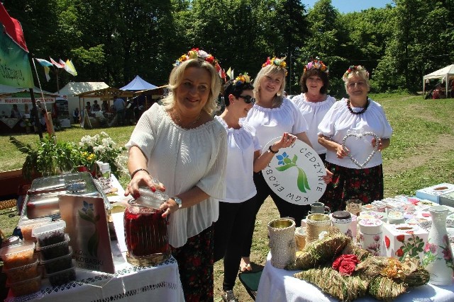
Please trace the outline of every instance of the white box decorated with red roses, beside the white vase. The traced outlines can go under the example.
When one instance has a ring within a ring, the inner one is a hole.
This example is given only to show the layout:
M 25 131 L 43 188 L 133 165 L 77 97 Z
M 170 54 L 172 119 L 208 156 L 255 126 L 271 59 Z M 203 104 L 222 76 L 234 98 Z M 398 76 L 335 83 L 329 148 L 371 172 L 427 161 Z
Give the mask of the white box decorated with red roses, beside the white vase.
M 407 223 L 383 225 L 384 250 L 387 257 L 404 260 L 405 255 L 423 260 L 428 231 Z

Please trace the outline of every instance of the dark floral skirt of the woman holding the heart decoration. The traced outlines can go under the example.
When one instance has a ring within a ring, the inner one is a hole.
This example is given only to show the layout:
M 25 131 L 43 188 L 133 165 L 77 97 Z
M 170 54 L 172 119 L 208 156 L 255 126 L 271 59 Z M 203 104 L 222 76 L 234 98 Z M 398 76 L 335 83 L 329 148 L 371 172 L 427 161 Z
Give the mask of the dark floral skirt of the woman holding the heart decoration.
M 326 185 L 320 199 L 331 212 L 345 210 L 345 201 L 360 199 L 362 204 L 383 199 L 383 167 L 353 169 L 326 162 L 326 168 L 333 173 L 333 179 Z

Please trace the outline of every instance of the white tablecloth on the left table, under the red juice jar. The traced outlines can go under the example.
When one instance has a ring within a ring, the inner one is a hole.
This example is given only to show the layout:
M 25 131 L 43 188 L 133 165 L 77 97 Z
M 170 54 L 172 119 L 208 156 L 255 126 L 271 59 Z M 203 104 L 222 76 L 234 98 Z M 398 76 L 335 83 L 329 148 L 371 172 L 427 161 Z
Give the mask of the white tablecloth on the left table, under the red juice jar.
M 119 186 L 114 179 L 114 185 Z M 119 188 L 119 202 L 124 191 Z M 51 286 L 48 279 L 42 280 L 41 290 L 30 295 L 13 297 L 11 291 L 6 302 L 23 301 L 184 301 L 178 264 L 174 257 L 155 267 L 138 267 L 126 262 L 123 213 L 113 214 L 118 240 L 111 241 L 115 274 L 76 269 L 76 280 L 62 286 Z

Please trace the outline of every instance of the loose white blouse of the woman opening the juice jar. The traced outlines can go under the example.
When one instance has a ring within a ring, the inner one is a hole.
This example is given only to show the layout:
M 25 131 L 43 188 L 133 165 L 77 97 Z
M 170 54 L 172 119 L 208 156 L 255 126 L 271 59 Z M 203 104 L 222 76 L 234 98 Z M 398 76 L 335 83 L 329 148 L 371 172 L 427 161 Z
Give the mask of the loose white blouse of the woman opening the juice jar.
M 179 127 L 158 105 L 145 111 L 135 126 L 129 149 L 138 146 L 148 159 L 148 171 L 170 197 L 197 186 L 209 198 L 170 214 L 169 243 L 179 248 L 217 221 L 218 199 L 226 196 L 226 129 L 217 120 L 194 129 Z M 184 203 L 184 200 L 183 200 Z

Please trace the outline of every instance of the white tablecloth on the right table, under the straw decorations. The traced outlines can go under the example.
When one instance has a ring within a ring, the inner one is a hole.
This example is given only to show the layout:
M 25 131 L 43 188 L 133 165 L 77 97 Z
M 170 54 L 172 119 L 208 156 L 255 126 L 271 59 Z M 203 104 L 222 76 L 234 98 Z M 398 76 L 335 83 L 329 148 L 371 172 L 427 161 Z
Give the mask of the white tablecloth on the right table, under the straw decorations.
M 323 294 L 320 289 L 309 282 L 293 277 L 298 271 L 287 271 L 277 269 L 270 262 L 271 254 L 268 253 L 267 262 L 260 277 L 258 285 L 257 298 L 258 302 L 303 302 L 303 301 L 338 301 L 338 299 Z M 375 302 L 375 298 L 363 297 L 355 301 L 358 302 Z M 450 286 L 433 286 L 426 284 L 424 286 L 412 287 L 408 293 L 402 294 L 393 300 L 394 302 L 452 302 L 454 301 L 454 284 Z

